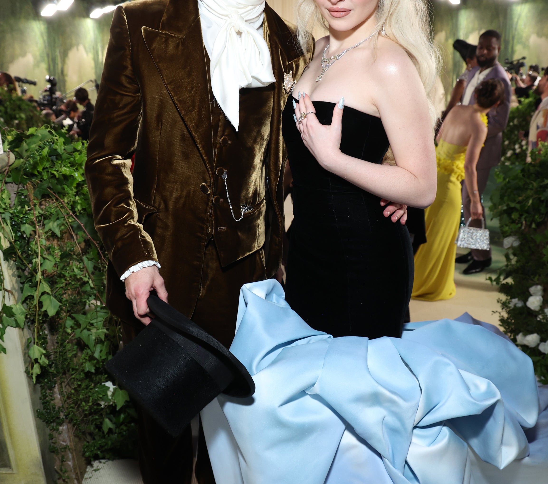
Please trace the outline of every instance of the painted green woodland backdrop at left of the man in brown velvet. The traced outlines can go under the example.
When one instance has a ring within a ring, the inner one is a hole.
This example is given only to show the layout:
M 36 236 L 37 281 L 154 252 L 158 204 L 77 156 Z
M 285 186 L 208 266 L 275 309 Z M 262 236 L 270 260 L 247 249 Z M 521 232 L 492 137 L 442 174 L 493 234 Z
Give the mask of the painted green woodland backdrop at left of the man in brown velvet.
M 36 79 L 28 93 L 38 97 L 44 77 L 58 79 L 66 92 L 88 79 L 100 79 L 112 14 L 90 19 L 93 2 L 75 0 L 66 12 L 42 17 L 45 2 L 0 0 L 0 71 Z M 92 100 L 95 93 L 91 92 Z

